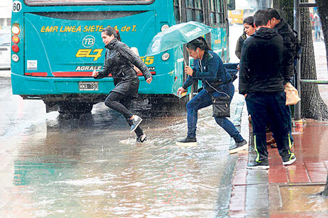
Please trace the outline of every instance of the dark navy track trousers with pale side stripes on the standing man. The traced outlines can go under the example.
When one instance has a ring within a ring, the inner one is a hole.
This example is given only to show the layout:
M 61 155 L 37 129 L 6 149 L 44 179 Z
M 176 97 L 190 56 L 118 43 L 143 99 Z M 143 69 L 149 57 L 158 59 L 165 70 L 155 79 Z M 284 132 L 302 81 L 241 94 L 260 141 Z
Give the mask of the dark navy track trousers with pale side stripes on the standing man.
M 268 158 L 266 126 L 269 121 L 276 139 L 278 152 L 283 159 L 292 155 L 288 132 L 288 111 L 285 106 L 285 92 L 280 93 L 248 93 L 246 104 L 251 114 L 253 125 L 254 149 L 257 153 L 255 162 Z

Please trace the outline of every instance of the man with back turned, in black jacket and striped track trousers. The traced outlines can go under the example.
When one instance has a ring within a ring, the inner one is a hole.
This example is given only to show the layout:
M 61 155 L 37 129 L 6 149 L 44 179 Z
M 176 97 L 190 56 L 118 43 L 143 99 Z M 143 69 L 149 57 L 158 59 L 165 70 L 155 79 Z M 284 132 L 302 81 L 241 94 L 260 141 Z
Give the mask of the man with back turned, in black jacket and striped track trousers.
M 285 107 L 283 38 L 269 29 L 267 10 L 254 15 L 258 30 L 249 37 L 241 49 L 239 93 L 245 96 L 248 113 L 253 124 L 255 161 L 248 169 L 269 169 L 266 125 L 267 121 L 276 138 L 283 165 L 292 164 L 296 157 L 288 146 L 288 120 Z

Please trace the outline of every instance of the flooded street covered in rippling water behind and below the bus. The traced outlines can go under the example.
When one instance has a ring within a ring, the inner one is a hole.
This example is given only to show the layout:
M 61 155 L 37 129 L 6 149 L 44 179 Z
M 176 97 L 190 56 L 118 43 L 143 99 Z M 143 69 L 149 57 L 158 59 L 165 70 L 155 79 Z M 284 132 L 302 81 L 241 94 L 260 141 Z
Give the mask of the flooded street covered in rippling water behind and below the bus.
M 197 147 L 175 145 L 186 116 L 144 118 L 150 139 L 136 143 L 103 103 L 80 118 L 46 114 L 41 100 L 12 95 L 9 79 L 0 77 L 0 217 L 228 217 L 237 155 L 211 107 L 199 113 Z M 238 102 L 235 93 L 231 114 Z M 241 131 L 248 139 L 247 123 Z

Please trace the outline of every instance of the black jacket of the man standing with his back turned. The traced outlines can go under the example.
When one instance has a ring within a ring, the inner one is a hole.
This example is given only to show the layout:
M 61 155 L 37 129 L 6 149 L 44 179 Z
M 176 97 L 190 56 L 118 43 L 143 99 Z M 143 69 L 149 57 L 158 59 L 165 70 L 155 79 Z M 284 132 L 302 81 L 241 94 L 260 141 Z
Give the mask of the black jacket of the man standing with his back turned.
M 283 38 L 273 29 L 260 28 L 241 48 L 239 93 L 283 91 Z

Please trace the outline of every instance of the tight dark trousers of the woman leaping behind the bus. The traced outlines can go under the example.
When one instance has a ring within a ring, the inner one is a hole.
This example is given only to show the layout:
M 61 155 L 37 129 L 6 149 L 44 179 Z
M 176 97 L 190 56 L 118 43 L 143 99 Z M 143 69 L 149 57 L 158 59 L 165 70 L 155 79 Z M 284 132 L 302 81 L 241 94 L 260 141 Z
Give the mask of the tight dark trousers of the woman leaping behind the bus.
M 132 123 L 130 118 L 133 116 L 133 113 L 128 108 L 131 107 L 132 100 L 133 98 L 131 98 L 130 96 L 122 95 L 116 92 L 111 92 L 110 95 L 108 95 L 105 100 L 105 105 L 123 114 L 123 116 L 126 118 L 126 122 L 128 122 L 128 125 L 131 126 Z M 137 134 L 137 137 L 140 137 L 144 133 L 142 132 L 142 129 L 138 126 L 135 129 L 135 134 Z

